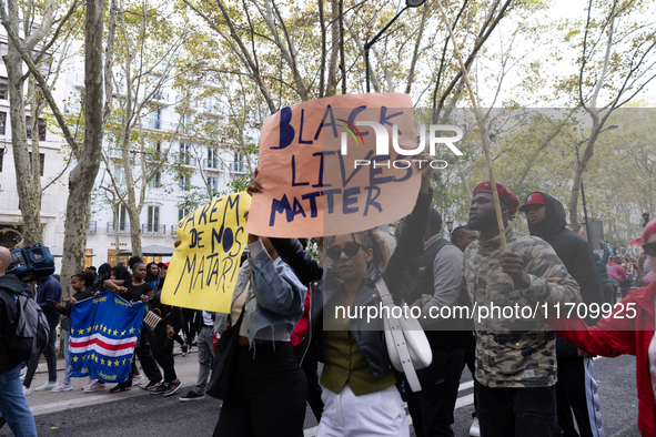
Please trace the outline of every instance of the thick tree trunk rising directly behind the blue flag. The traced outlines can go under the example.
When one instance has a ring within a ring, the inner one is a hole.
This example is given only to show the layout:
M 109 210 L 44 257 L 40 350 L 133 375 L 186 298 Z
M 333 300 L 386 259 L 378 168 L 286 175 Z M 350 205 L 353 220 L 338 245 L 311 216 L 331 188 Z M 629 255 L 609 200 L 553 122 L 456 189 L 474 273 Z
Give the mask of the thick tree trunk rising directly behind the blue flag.
M 68 278 L 84 268 L 91 191 L 100 169 L 103 133 L 104 0 L 88 0 L 84 19 L 84 144 L 69 176 L 65 236 L 61 275 Z M 65 281 L 63 282 L 67 283 Z M 70 296 L 70 287 L 65 295 Z

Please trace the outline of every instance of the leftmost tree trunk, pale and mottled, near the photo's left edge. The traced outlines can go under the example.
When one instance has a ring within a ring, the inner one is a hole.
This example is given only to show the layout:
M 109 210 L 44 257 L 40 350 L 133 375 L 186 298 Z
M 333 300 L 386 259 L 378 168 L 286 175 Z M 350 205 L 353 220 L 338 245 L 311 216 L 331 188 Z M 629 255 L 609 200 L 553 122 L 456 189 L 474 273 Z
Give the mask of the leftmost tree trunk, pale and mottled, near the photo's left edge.
M 8 4 L 10 18 L 9 26 L 13 27 L 18 34 L 18 6 L 16 1 Z M 13 44 L 9 44 L 4 55 L 7 79 L 9 85 L 9 118 L 11 123 L 11 149 L 13 150 L 13 163 L 16 167 L 16 185 L 19 196 L 19 209 L 23 220 L 23 243 L 34 244 L 43 241 L 41 230 L 41 202 L 40 180 L 32 175 L 30 153 L 28 151 L 28 136 L 26 131 L 26 94 L 22 60 Z M 32 132 L 38 135 L 38 132 Z M 38 159 L 39 156 L 37 156 Z M 39 182 L 39 186 L 34 185 Z

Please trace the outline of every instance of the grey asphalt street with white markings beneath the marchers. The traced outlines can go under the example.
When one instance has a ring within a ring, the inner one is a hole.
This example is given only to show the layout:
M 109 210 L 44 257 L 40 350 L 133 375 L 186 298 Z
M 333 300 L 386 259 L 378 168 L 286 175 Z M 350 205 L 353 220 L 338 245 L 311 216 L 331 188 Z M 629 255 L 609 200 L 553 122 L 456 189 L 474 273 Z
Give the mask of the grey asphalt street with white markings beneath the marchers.
M 176 352 L 180 353 L 179 349 Z M 46 369 L 44 363 L 41 369 Z M 184 384 L 180 393 L 184 394 L 195 382 L 196 355 L 178 355 L 175 369 Z M 62 372 L 59 375 L 61 380 Z M 595 360 L 595 377 L 599 383 L 605 435 L 639 436 L 635 358 L 598 358 Z M 39 374 L 32 388 L 43 384 L 46 378 L 47 374 Z M 107 392 L 84 394 L 80 389 L 84 384 L 85 379 L 73 379 L 75 389 L 72 392 L 32 392 L 28 396 L 39 436 L 210 436 L 219 417 L 220 403 L 210 397 L 193 403 L 180 403 L 175 395 L 169 398 L 151 396 L 140 388 L 111 395 Z M 472 376 L 465 369 L 455 410 L 454 431 L 457 437 L 468 436 L 474 409 L 473 397 Z M 315 430 L 316 420 L 309 408 L 305 435 L 314 436 Z M 11 431 L 4 427 L 0 430 L 0 436 L 11 436 Z

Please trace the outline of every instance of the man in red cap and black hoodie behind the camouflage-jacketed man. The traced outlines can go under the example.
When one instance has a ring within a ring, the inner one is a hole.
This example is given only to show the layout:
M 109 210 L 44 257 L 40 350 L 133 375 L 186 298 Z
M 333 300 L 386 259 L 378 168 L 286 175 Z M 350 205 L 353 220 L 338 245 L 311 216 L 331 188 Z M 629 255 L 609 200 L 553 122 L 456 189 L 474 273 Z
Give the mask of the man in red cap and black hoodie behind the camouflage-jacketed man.
M 567 272 L 581 286 L 581 297 L 589 305 L 602 307 L 604 293 L 592 246 L 576 232 L 568 230 L 563 204 L 547 193 L 531 193 L 519 207 L 526 214 L 531 235 L 547 242 L 556 252 Z M 585 319 L 596 325 L 593 317 Z M 558 425 L 565 437 L 598 437 L 604 435 L 597 383 L 593 378 L 594 363 L 563 338 L 556 339 L 558 382 L 556 405 Z M 578 430 L 574 426 L 574 418 Z

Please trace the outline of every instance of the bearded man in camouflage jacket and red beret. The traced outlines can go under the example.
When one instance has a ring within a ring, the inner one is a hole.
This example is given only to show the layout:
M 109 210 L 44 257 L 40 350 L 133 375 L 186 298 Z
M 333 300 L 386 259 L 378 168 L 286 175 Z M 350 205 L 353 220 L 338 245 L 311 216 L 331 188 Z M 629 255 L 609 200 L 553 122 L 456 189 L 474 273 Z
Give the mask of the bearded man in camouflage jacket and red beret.
M 485 314 L 483 309 L 493 305 L 542 308 L 545 303 L 579 303 L 578 285 L 547 243 L 508 227 L 519 201 L 503 184 L 496 187 L 508 252 L 501 250 L 492 185 L 483 182 L 474 189 L 467 224 L 480 232 L 481 238 L 465 250 L 463 264 L 467 292 L 477 307 L 474 324 L 481 435 L 556 436 L 561 428 L 554 387 L 555 334 L 539 314 L 526 319 L 506 312 Z

